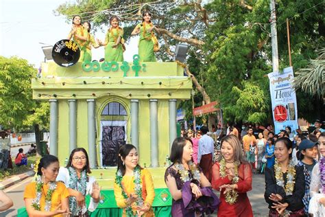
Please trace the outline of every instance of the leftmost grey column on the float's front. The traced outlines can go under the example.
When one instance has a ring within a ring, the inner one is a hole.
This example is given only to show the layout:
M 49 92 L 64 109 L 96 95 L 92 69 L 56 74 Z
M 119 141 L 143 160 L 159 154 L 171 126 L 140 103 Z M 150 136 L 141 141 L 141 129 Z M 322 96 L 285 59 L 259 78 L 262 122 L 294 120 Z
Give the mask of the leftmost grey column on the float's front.
M 58 100 L 49 100 L 49 154 L 58 156 Z

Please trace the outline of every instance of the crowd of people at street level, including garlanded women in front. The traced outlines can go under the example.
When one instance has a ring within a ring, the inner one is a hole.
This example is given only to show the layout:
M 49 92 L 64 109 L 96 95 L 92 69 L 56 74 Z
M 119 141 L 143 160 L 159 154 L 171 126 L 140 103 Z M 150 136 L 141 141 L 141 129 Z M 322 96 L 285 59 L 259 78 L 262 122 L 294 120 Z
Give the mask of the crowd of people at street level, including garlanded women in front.
M 242 132 L 231 133 L 234 130 L 230 129 L 219 142 L 215 142 L 215 133 L 208 133 L 207 126 L 202 126 L 197 135 L 193 130 L 186 134 L 182 130 L 182 137 L 173 141 L 171 165 L 165 171 L 172 197 L 171 215 L 253 216 L 247 192 L 252 190 L 254 169 L 261 167 L 256 159 L 262 158 L 269 216 L 325 216 L 325 133 L 313 140 L 310 135 L 291 139 L 288 131 L 276 137 L 272 126 L 265 128 L 269 132 L 256 134 L 251 126 L 245 130 L 239 139 Z M 259 155 L 264 148 L 265 153 Z M 117 159 L 114 193 L 123 216 L 154 216 L 154 181 L 149 170 L 141 167 L 136 147 L 121 146 Z M 71 152 L 66 167 L 60 167 L 57 157 L 45 155 L 36 169 L 36 181 L 29 183 L 24 193 L 29 216 L 88 216 L 97 208 L 101 187 L 91 176 L 84 148 Z M 91 197 L 88 206 L 86 195 Z M 1 207 L 10 205 L 6 201 Z

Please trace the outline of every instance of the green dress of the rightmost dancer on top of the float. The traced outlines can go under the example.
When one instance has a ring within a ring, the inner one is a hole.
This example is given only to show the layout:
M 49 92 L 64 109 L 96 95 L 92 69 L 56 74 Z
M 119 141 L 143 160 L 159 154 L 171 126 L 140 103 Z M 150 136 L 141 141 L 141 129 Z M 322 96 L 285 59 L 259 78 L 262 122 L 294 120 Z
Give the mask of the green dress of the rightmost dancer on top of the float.
M 156 62 L 154 55 L 154 42 L 152 41 L 152 32 L 147 32 L 148 25 L 144 23 L 136 25 L 140 28 L 139 56 L 141 62 Z M 146 29 L 146 30 L 145 30 Z

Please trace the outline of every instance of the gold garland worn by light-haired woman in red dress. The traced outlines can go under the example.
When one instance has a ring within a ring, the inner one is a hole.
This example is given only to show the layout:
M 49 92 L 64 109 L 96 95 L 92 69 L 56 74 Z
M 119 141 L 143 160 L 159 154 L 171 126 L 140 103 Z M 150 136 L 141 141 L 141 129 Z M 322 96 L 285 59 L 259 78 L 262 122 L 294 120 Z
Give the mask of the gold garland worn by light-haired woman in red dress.
M 227 176 L 226 174 L 226 160 L 224 157 L 221 159 L 220 163 L 220 168 L 219 168 L 219 174 L 221 178 L 224 178 Z M 239 176 L 238 176 L 238 167 L 240 163 L 239 161 L 234 162 L 234 178 L 232 178 L 232 184 L 236 184 L 239 181 Z M 238 192 L 236 190 L 230 190 L 226 193 L 226 202 L 229 203 L 230 205 L 233 205 L 234 203 L 237 202 L 238 198 Z

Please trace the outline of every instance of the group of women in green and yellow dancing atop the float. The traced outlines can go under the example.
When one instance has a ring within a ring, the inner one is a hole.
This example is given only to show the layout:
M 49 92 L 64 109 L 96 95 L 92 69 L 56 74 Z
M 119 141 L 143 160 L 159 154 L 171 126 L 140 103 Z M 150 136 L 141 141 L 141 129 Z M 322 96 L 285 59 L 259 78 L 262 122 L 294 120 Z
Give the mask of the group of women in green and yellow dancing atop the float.
M 132 31 L 132 36 L 139 34 L 139 58 L 141 62 L 156 62 L 154 52 L 157 52 L 158 40 L 154 32 L 158 32 L 158 28 L 152 24 L 152 14 L 150 12 L 143 12 L 143 21 L 136 25 Z M 91 34 L 91 23 L 85 21 L 82 23 L 82 18 L 79 15 L 73 16 L 72 28 L 69 32 L 68 39 L 73 39 L 80 48 L 80 62 L 91 62 L 92 47 L 105 47 L 105 58 L 107 62 L 117 61 L 123 62 L 123 52 L 125 51 L 125 44 L 123 39 L 123 28 L 119 25 L 119 17 L 111 16 L 110 27 L 106 33 L 104 41 L 99 40 Z M 101 61 L 101 60 L 100 60 Z

